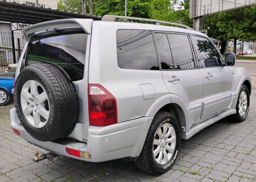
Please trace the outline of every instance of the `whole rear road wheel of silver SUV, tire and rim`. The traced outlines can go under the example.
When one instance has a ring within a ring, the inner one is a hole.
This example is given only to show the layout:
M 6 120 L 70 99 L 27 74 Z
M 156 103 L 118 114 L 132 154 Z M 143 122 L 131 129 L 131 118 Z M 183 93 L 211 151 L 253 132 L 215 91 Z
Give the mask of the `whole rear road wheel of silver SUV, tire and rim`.
M 135 164 L 144 172 L 163 174 L 174 164 L 180 149 L 180 140 L 181 129 L 175 116 L 169 112 L 158 112 Z

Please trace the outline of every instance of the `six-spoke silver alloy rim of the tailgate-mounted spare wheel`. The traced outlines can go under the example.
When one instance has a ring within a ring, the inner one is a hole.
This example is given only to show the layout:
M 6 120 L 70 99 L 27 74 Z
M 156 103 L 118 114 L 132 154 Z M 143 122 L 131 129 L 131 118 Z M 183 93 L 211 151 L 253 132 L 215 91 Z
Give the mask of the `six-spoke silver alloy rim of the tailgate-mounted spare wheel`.
M 20 103 L 30 125 L 42 128 L 47 124 L 50 117 L 49 98 L 40 83 L 27 81 L 21 89 Z

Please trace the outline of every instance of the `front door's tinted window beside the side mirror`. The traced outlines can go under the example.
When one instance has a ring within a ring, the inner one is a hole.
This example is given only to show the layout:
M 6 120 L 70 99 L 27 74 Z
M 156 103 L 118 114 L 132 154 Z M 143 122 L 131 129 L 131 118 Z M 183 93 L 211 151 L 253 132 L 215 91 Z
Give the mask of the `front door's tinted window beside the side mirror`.
M 198 67 L 202 68 L 220 65 L 219 53 L 215 49 L 215 46 L 212 45 L 212 42 L 203 37 L 196 36 L 191 36 L 191 40 L 196 48 Z

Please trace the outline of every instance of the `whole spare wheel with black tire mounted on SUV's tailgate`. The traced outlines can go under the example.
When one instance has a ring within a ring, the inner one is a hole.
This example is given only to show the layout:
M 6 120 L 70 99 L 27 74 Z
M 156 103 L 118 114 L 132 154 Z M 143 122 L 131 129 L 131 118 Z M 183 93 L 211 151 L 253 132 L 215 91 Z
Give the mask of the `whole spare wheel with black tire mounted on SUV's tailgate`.
M 56 65 L 29 65 L 15 82 L 18 118 L 37 140 L 51 141 L 70 133 L 76 123 L 77 103 L 74 86 Z

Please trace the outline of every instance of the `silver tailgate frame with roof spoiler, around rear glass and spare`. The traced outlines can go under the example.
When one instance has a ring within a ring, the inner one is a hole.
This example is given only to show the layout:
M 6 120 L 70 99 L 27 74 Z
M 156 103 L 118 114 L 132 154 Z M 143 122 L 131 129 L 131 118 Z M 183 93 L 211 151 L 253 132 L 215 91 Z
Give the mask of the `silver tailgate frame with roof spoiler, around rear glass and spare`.
M 75 28 L 75 27 L 82 28 L 83 31 L 88 35 L 85 53 L 89 53 L 92 22 L 93 22 L 92 19 L 54 20 L 54 21 L 43 22 L 43 23 L 39 23 L 36 25 L 25 27 L 22 29 L 22 33 L 24 34 L 26 41 L 29 41 L 31 36 L 36 35 L 36 34 L 44 35 L 45 32 L 49 32 L 51 30 L 63 30 L 63 29 Z M 68 41 L 68 39 L 67 39 L 67 41 Z M 48 42 L 43 42 L 43 44 L 47 44 L 47 43 Z M 41 44 L 42 44 L 42 41 L 41 41 Z M 27 46 L 28 46 L 28 44 L 27 44 Z M 72 44 L 71 44 L 71 46 L 72 46 Z M 26 49 L 27 49 L 27 47 L 26 47 Z M 15 78 L 17 78 L 20 73 L 20 67 L 22 65 L 22 60 L 25 55 L 26 49 L 23 50 L 22 55 L 20 57 Z M 28 54 L 28 56 L 29 56 L 29 54 Z M 88 135 L 88 129 L 89 129 L 88 94 L 87 94 L 89 54 L 85 54 L 84 59 L 85 59 L 83 61 L 84 76 L 81 80 L 73 81 L 73 84 L 76 87 L 77 95 L 79 98 L 79 108 L 80 108 L 79 117 L 78 117 L 78 121 L 76 123 L 76 126 L 75 126 L 73 132 L 68 136 L 69 138 L 79 140 L 79 141 L 87 141 L 87 135 Z

